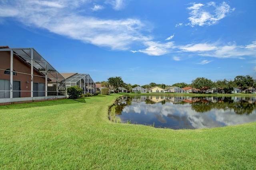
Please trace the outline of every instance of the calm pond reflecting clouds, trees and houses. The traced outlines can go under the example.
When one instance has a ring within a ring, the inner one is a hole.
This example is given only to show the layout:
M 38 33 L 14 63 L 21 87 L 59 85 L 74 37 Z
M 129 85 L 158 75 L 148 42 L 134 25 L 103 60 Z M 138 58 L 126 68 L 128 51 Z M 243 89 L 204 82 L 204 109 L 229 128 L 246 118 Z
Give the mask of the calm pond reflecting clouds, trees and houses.
M 115 106 L 121 123 L 156 128 L 201 129 L 256 121 L 256 97 L 123 96 Z

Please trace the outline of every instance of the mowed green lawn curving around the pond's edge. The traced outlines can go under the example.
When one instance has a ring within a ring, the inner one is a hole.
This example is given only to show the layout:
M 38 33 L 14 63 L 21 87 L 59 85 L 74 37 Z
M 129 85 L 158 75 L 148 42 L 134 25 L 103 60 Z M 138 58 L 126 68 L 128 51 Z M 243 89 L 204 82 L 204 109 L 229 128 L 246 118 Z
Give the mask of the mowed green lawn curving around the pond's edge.
M 0 169 L 255 169 L 256 122 L 197 130 L 112 123 L 120 94 L 0 107 Z

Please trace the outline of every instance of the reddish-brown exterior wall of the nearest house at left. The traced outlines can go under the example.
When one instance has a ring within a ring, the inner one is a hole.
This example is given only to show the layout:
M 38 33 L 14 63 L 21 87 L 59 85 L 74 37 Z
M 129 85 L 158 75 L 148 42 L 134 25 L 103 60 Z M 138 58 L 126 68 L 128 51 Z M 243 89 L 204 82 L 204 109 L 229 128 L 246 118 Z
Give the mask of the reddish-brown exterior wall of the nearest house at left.
M 10 52 L 9 51 L 0 51 L 0 69 L 8 69 L 10 68 Z M 0 70 L 0 79 L 10 80 L 10 74 L 4 74 L 4 70 Z M 13 56 L 13 70 L 17 73 L 13 75 L 13 80 L 17 80 L 21 82 L 21 97 L 30 97 L 31 96 L 31 67 L 30 65 L 24 63 L 21 59 Z M 22 73 L 26 74 L 22 74 Z M 34 82 L 44 83 L 45 77 L 36 70 L 34 70 Z M 27 83 L 28 82 L 28 83 Z

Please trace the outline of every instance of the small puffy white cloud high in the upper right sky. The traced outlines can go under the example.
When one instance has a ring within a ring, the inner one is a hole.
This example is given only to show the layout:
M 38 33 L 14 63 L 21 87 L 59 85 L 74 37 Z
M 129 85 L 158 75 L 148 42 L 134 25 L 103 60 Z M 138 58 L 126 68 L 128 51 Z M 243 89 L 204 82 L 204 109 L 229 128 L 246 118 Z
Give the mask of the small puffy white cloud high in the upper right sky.
M 211 7 L 214 10 L 210 10 Z M 215 4 L 215 2 L 210 2 L 206 5 L 204 4 L 196 4 L 187 8 L 191 12 L 188 20 L 190 23 L 187 25 L 191 25 L 194 27 L 195 25 L 204 26 L 204 25 L 214 25 L 218 23 L 219 20 L 226 17 L 226 14 L 235 10 L 235 8 L 231 9 L 230 6 L 226 2 L 222 2 L 219 6 Z

